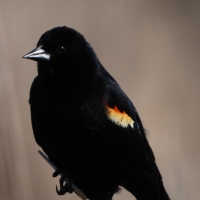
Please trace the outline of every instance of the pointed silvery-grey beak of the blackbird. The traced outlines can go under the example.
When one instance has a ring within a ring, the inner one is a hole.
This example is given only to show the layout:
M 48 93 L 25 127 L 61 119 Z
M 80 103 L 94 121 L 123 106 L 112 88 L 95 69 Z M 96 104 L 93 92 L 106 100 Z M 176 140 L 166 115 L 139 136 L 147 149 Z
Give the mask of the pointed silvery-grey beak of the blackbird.
M 31 52 L 24 55 L 22 58 L 35 60 L 35 61 L 50 61 L 51 55 L 47 53 L 44 49 L 42 49 L 42 46 L 39 46 L 38 48 L 32 50 Z

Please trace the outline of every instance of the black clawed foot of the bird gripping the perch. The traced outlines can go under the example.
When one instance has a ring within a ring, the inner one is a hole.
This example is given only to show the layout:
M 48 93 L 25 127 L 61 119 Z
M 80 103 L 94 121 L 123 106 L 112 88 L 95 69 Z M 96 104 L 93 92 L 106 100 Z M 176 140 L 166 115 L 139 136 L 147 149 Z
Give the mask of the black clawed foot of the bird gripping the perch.
M 53 173 L 53 177 L 58 176 L 59 174 L 61 175 L 61 178 L 59 180 L 60 182 L 60 189 L 58 190 L 57 186 L 56 186 L 56 192 L 58 195 L 64 195 L 67 192 L 68 193 L 72 193 L 74 190 L 72 188 L 72 180 L 69 179 L 67 177 L 67 173 L 63 172 L 61 169 L 57 169 L 54 173 Z

